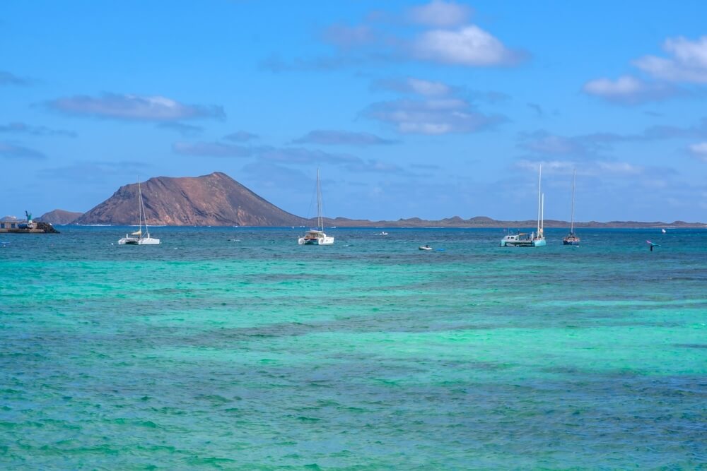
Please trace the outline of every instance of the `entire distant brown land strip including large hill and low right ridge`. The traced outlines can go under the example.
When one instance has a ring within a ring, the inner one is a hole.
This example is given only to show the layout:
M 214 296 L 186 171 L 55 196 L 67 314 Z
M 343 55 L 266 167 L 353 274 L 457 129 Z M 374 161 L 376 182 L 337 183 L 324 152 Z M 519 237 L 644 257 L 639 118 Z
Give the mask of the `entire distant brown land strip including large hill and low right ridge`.
M 222 172 L 201 177 L 153 177 L 141 184 L 149 225 L 169 226 L 310 226 L 307 219 L 281 210 Z M 57 225 L 133 225 L 138 220 L 138 185 L 121 186 L 103 203 L 86 213 L 53 210 L 37 218 Z M 477 216 L 454 216 L 442 220 L 419 217 L 395 221 L 370 221 L 346 217 L 325 218 L 325 225 L 337 227 L 533 227 L 535 220 L 503 221 Z M 575 222 L 575 227 L 707 227 L 701 222 Z M 568 227 L 569 222 L 545 220 L 545 227 Z

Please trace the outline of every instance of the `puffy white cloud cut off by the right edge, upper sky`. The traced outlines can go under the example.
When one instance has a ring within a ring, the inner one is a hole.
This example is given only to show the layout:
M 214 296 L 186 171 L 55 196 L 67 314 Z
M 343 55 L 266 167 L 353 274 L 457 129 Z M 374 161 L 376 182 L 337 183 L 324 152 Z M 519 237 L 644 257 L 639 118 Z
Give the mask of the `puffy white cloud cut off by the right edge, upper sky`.
M 633 64 L 660 80 L 707 83 L 707 36 L 691 41 L 685 37 L 668 38 L 663 49 L 670 59 L 644 56 Z

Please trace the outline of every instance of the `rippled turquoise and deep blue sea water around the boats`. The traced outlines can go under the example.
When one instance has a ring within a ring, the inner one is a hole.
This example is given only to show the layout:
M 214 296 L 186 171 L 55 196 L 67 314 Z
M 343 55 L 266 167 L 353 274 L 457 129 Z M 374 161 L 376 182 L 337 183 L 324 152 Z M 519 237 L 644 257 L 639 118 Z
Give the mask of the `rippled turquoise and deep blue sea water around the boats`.
M 59 229 L 0 234 L 0 468 L 707 469 L 707 230 Z

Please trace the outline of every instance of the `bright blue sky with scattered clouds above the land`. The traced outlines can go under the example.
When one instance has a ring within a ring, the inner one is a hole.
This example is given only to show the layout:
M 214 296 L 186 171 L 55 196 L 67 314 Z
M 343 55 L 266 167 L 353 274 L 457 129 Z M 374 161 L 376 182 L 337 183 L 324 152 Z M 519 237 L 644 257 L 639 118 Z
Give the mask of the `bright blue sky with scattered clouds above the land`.
M 312 217 L 707 222 L 707 2 L 7 1 L 0 216 L 224 172 Z

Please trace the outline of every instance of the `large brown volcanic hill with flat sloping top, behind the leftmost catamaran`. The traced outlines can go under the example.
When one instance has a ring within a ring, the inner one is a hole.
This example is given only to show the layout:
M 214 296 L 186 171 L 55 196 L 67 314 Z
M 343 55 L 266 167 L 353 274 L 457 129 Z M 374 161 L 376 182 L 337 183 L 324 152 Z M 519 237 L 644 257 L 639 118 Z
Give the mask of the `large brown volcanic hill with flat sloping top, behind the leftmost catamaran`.
M 156 177 L 141 184 L 148 225 L 287 226 L 303 218 L 287 213 L 228 175 Z M 121 186 L 76 224 L 131 225 L 138 222 L 138 185 Z

